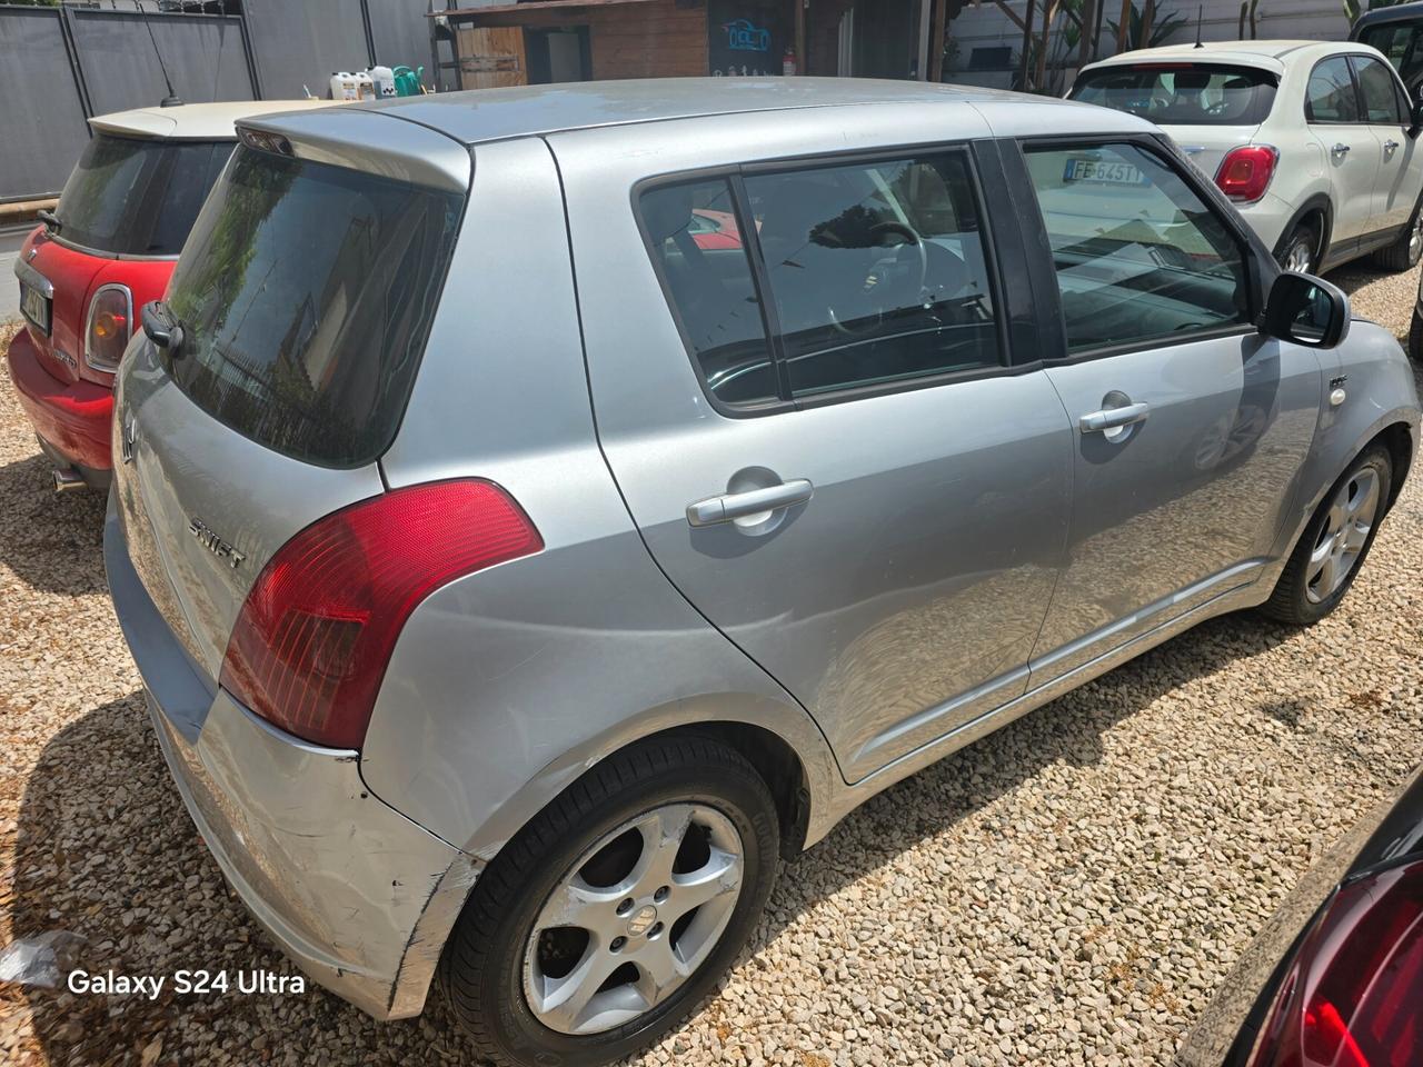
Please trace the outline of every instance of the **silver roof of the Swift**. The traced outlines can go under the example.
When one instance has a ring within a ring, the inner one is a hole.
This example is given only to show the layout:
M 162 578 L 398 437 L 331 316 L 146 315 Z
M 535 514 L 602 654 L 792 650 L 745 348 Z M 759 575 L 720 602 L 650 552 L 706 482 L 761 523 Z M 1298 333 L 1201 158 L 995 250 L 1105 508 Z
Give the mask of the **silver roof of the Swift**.
M 360 104 L 342 111 L 384 112 L 435 129 L 465 145 L 571 129 L 690 120 L 756 111 L 850 105 L 961 104 L 972 107 L 1032 104 L 1050 98 L 965 85 L 871 78 L 642 78 L 629 81 L 521 85 L 468 90 Z M 1063 108 L 1067 132 L 1117 128 L 1099 108 L 1050 101 Z M 989 108 L 996 110 L 996 108 Z M 1077 124 L 1067 115 L 1080 115 Z M 260 124 L 282 131 L 280 120 Z M 303 124 L 306 125 L 306 124 Z M 333 122 L 334 128 L 336 124 Z M 1141 124 L 1141 128 L 1150 127 Z M 293 128 L 295 135 L 300 135 Z M 943 131 L 953 137 L 952 129 Z

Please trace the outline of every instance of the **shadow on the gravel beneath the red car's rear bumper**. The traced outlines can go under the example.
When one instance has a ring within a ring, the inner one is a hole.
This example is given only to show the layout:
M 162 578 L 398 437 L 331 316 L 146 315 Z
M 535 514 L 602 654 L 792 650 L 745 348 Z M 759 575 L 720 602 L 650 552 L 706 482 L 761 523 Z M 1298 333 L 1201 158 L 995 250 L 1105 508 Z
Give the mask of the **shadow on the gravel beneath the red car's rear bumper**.
M 102 593 L 102 492 L 55 494 L 43 455 L 0 467 L 0 562 L 46 593 Z

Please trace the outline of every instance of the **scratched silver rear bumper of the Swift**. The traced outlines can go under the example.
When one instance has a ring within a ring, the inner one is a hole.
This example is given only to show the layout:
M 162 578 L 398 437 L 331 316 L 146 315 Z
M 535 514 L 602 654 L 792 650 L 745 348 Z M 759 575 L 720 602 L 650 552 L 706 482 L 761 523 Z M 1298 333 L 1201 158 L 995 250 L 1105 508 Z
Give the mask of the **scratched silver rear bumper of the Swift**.
M 164 758 L 228 882 L 313 980 L 377 1019 L 420 1014 L 475 862 L 370 794 L 354 751 L 212 686 L 134 570 L 112 498 L 104 563 Z

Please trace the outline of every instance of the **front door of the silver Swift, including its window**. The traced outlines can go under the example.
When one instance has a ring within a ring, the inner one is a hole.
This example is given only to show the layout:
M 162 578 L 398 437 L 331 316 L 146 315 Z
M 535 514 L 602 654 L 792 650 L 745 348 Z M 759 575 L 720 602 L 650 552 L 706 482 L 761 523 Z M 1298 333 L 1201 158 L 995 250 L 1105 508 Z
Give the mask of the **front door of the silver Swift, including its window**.
M 1251 326 L 1247 249 L 1151 142 L 1025 147 L 1069 357 L 1069 562 L 1046 683 L 1255 580 L 1313 437 L 1313 350 Z

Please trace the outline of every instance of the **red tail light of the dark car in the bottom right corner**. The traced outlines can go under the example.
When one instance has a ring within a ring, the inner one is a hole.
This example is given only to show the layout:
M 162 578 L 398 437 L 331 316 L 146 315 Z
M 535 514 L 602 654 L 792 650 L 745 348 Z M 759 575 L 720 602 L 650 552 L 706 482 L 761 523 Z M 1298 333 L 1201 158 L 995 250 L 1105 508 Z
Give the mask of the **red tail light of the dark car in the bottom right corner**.
M 1423 862 L 1339 891 L 1301 942 L 1249 1067 L 1423 1063 Z

